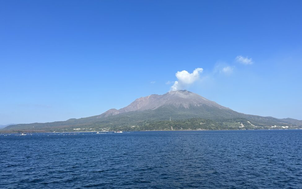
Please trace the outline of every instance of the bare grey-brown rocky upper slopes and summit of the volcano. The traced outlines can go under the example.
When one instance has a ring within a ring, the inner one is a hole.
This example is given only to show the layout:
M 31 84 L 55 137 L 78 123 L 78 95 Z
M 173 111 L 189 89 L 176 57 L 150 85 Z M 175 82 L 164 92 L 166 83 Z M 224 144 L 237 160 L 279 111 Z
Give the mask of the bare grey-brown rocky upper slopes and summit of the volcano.
M 149 95 L 146 97 L 141 97 L 136 99 L 134 102 L 126 106 L 125 108 L 121 108 L 119 110 L 110 109 L 107 112 L 99 115 L 101 117 L 107 117 L 111 115 L 116 115 L 119 113 L 132 112 L 132 111 L 144 111 L 144 110 L 155 110 L 156 108 L 172 105 L 175 108 L 186 108 L 190 107 L 200 107 L 203 105 L 207 105 L 212 108 L 219 109 L 228 109 L 224 106 L 217 104 L 211 100 L 205 99 L 204 97 L 192 93 L 187 90 L 177 90 L 170 91 L 164 95 Z

